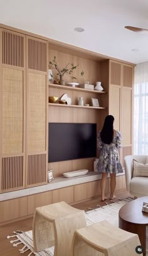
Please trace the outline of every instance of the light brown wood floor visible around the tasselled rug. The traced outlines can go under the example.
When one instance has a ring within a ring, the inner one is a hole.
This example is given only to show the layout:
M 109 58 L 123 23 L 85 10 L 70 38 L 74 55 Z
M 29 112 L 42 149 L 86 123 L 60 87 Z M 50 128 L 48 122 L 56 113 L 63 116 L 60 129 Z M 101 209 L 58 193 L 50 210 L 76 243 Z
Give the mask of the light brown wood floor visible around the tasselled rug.
M 126 198 L 130 196 L 129 192 L 127 191 L 120 191 L 116 193 L 117 199 L 118 198 Z M 110 203 L 110 200 L 107 201 Z M 88 208 L 97 208 L 97 204 L 100 204 L 101 206 L 105 205 L 104 202 L 100 201 L 100 198 L 95 198 L 90 201 L 85 201 L 83 203 L 75 204 L 73 207 L 77 209 L 83 209 L 85 211 L 88 211 Z M 28 231 L 32 230 L 32 223 L 33 218 L 28 218 L 26 220 L 16 221 L 14 223 L 0 226 L 0 255 L 2 256 L 20 256 L 19 249 L 23 247 L 23 245 L 18 245 L 18 247 L 13 247 L 13 245 L 9 242 L 9 240 L 6 238 L 8 235 L 13 235 L 12 232 L 16 230 L 21 231 Z M 24 256 L 27 256 L 29 253 L 23 253 Z

